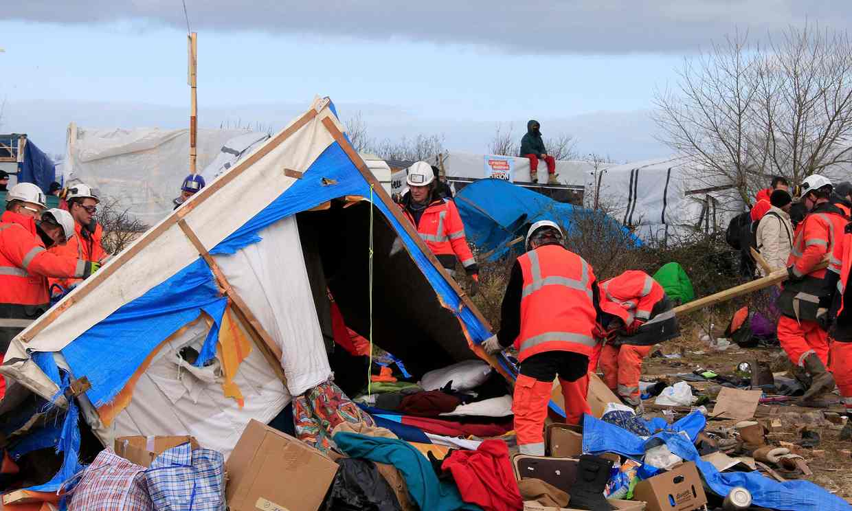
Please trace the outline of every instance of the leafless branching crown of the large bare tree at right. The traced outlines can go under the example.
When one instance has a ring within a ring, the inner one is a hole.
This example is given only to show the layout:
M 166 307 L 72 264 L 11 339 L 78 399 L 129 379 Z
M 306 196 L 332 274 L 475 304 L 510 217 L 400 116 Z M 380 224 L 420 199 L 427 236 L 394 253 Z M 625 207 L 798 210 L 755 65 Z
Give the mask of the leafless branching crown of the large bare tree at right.
M 737 33 L 686 59 L 674 91 L 658 91 L 660 139 L 690 160 L 695 181 L 740 198 L 772 175 L 798 184 L 852 163 L 852 40 L 789 28 L 767 45 Z

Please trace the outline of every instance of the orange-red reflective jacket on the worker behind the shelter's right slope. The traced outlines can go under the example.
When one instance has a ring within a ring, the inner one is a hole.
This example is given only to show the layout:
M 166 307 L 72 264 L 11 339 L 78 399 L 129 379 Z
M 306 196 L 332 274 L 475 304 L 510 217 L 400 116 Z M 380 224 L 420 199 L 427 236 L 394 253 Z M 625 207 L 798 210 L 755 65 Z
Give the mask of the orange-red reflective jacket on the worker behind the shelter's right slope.
M 408 203 L 407 198 L 404 203 Z M 470 251 L 467 238 L 464 237 L 462 217 L 458 215 L 458 208 L 452 200 L 440 198 L 429 204 L 420 216 L 419 223 L 414 221 L 414 216 L 406 204 L 400 204 L 400 208 L 412 225 L 417 227 L 420 238 L 423 238 L 441 265 L 452 270 L 458 257 L 467 273 L 478 273 L 476 259 Z

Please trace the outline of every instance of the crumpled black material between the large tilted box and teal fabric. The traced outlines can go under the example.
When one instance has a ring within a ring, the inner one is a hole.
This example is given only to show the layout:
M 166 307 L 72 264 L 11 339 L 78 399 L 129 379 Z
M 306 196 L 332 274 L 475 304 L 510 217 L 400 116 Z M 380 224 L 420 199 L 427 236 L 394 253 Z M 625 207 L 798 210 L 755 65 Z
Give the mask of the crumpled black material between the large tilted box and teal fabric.
M 402 511 L 375 464 L 357 458 L 342 458 L 337 464 L 340 468 L 325 497 L 325 511 Z

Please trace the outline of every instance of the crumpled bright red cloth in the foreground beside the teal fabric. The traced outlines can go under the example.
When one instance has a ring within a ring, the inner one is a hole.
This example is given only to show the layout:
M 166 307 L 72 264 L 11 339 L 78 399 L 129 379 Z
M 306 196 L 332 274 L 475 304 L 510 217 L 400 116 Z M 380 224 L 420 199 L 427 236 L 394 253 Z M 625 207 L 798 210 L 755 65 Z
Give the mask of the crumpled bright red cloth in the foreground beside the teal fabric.
M 523 509 L 509 448 L 502 440 L 485 440 L 476 451 L 452 451 L 441 468 L 452 474 L 464 502 L 486 511 Z

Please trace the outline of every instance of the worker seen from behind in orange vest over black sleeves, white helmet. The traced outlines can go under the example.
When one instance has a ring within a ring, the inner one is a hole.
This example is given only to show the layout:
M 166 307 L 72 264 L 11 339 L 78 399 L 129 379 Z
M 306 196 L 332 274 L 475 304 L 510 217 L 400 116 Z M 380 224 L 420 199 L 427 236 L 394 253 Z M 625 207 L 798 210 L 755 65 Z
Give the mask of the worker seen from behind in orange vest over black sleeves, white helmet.
M 577 382 L 587 377 L 595 352 L 598 298 L 595 274 L 582 257 L 562 246 L 561 229 L 537 221 L 527 233 L 527 253 L 512 267 L 503 298 L 500 331 L 483 343 L 497 353 L 513 342 L 521 363 L 512 411 L 518 447 L 544 455 L 544 419 L 556 376 L 568 422 L 589 410 Z

